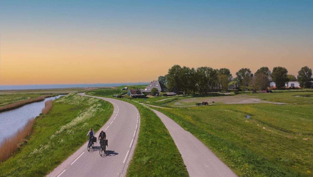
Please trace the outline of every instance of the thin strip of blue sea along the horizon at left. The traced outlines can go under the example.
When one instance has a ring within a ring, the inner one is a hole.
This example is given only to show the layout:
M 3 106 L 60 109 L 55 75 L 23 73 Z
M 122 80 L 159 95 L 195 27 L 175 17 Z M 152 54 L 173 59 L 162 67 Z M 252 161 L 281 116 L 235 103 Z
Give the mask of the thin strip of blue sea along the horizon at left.
M 122 85 L 147 85 L 150 82 L 136 83 L 83 83 L 83 84 L 38 84 L 38 85 L 0 85 L 0 90 L 23 90 L 23 89 L 61 89 L 78 87 L 115 87 Z

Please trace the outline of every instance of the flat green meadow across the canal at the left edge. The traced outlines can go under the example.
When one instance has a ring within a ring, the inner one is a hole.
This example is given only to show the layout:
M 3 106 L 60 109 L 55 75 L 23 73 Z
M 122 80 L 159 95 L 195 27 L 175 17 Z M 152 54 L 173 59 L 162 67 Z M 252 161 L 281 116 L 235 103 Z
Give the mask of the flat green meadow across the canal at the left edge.
M 21 100 L 37 98 L 39 96 L 42 96 L 42 94 L 3 94 L 0 95 L 0 106 L 4 106 Z

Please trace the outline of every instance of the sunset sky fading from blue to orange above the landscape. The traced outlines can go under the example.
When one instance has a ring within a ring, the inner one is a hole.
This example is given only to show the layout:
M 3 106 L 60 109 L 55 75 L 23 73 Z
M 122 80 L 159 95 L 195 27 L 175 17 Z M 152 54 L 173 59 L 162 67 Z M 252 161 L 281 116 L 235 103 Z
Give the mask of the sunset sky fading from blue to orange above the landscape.
M 0 84 L 150 82 L 172 65 L 313 68 L 313 1 L 0 0 Z

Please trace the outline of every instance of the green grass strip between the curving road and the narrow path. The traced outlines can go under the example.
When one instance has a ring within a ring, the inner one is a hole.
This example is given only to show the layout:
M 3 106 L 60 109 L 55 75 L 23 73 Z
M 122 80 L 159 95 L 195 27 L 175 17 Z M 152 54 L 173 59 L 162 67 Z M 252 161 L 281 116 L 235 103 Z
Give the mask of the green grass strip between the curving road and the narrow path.
M 189 176 L 182 156 L 161 119 L 144 105 L 129 99 L 120 100 L 135 105 L 141 119 L 137 145 L 126 176 Z

